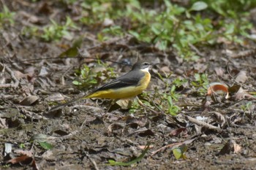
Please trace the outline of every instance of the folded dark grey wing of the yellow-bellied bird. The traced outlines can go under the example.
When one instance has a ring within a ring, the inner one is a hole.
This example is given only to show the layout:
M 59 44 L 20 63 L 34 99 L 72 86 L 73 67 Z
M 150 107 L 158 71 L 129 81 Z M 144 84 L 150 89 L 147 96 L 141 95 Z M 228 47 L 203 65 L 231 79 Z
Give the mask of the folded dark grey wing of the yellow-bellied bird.
M 135 74 L 136 73 L 136 74 Z M 97 88 L 92 93 L 99 91 L 99 90 L 109 90 L 115 88 L 125 88 L 130 85 L 138 85 L 141 78 L 144 76 L 144 72 L 128 72 L 127 74 L 122 75 L 121 77 L 116 78 L 108 82 L 107 84 L 103 85 L 100 88 Z

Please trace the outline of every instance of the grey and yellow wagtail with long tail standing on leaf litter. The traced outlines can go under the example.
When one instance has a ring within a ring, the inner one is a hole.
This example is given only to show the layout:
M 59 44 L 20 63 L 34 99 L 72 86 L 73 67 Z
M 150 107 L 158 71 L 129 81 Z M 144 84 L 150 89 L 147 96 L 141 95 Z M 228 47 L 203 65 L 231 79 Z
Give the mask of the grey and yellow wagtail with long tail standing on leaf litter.
M 135 63 L 127 74 L 102 85 L 102 87 L 93 90 L 86 96 L 53 107 L 50 111 L 86 98 L 110 98 L 117 101 L 118 99 L 136 97 L 148 87 L 151 79 L 151 74 L 148 72 L 150 66 L 151 64 L 148 62 Z

